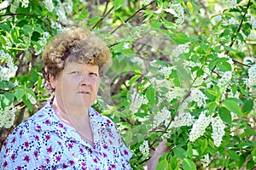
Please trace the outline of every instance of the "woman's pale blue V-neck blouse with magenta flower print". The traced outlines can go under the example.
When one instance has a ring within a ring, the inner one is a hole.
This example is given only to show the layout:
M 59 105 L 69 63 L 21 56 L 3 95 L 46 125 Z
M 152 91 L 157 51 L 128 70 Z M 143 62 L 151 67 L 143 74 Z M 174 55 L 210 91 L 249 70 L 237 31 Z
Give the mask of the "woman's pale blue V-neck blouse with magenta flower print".
M 131 169 L 131 152 L 113 122 L 92 108 L 89 114 L 93 146 L 61 122 L 48 102 L 3 143 L 0 169 Z

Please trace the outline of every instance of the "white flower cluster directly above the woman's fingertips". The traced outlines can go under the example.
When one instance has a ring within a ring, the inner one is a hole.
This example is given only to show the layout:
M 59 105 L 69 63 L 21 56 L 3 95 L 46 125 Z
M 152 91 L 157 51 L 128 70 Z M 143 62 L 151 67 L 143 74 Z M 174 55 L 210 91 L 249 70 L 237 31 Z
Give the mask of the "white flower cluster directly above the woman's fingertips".
M 158 127 L 160 123 L 165 122 L 165 125 L 167 126 L 171 118 L 171 112 L 164 107 L 161 111 L 158 111 L 156 115 L 154 116 L 153 125 L 154 127 Z

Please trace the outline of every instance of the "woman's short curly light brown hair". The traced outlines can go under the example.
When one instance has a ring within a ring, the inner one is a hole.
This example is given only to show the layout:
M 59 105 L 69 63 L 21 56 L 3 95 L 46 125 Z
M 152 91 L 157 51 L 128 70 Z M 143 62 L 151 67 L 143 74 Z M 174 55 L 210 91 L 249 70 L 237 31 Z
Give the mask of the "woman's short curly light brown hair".
M 58 77 L 67 62 L 98 65 L 100 75 L 112 64 L 112 54 L 105 42 L 85 28 L 72 27 L 55 35 L 43 51 L 45 88 L 55 89 L 49 83 L 49 74 Z

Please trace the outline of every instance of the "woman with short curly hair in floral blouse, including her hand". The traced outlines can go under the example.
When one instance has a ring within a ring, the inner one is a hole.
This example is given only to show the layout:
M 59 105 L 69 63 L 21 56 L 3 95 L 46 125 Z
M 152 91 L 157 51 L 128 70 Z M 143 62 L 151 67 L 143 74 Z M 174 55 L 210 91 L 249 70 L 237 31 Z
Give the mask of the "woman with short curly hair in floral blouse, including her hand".
M 111 63 L 95 34 L 72 28 L 44 48 L 44 77 L 52 96 L 3 143 L 0 169 L 131 169 L 131 152 L 113 122 L 90 106 Z M 145 168 L 154 169 L 166 146 Z

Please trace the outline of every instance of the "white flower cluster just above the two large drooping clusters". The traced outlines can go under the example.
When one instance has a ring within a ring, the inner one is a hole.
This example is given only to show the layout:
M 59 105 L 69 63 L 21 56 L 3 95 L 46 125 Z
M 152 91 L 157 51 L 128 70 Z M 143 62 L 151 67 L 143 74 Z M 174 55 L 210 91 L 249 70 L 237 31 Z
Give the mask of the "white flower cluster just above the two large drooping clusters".
M 189 101 L 195 101 L 198 107 L 205 107 L 207 96 L 198 88 L 192 88 L 191 94 L 188 98 Z

